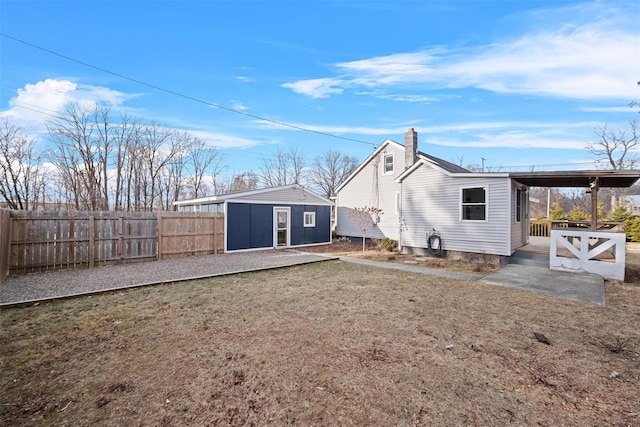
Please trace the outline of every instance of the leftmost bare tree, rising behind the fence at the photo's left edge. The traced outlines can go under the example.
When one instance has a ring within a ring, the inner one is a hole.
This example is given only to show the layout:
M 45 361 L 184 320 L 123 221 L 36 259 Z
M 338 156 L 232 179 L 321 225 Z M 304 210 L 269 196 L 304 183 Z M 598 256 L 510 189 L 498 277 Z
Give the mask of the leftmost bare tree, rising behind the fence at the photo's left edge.
M 43 181 L 32 139 L 18 125 L 0 120 L 0 196 L 11 209 L 35 208 Z

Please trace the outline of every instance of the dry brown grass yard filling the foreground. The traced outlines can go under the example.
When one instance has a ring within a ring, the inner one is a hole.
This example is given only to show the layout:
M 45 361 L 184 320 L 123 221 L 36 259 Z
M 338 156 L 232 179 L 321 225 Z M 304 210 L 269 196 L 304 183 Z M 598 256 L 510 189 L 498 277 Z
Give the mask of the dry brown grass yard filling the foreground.
M 330 261 L 4 309 L 0 424 L 640 425 L 640 286 L 606 292 Z

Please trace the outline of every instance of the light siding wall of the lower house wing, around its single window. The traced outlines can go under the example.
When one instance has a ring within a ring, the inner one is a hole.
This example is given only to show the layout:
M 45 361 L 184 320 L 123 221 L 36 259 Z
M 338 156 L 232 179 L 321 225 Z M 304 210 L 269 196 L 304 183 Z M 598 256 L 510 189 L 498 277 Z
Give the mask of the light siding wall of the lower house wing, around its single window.
M 461 220 L 463 187 L 487 188 L 486 221 Z M 419 167 L 402 183 L 401 245 L 424 248 L 427 233 L 435 229 L 444 250 L 511 255 L 510 187 L 506 177 L 450 176 Z

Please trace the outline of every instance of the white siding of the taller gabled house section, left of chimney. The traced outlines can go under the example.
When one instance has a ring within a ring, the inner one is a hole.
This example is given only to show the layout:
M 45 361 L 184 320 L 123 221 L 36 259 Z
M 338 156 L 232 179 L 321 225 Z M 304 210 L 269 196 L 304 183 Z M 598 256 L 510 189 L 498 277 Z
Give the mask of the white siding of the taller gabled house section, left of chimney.
M 394 171 L 389 174 L 383 169 L 387 154 L 394 156 Z M 339 236 L 362 237 L 358 226 L 349 219 L 349 212 L 356 207 L 374 206 L 382 209 L 383 214 L 377 226 L 367 232 L 367 237 L 399 239 L 396 193 L 400 191 L 400 184 L 395 179 L 404 172 L 404 165 L 404 147 L 387 145 L 340 189 L 336 200 L 336 232 Z

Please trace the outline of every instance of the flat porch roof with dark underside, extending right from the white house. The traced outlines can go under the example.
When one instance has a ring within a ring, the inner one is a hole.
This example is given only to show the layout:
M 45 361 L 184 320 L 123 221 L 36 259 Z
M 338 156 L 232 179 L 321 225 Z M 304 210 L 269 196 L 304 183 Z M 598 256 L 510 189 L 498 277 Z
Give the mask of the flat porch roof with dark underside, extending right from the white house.
M 594 178 L 600 188 L 631 187 L 640 179 L 640 170 L 509 172 L 509 176 L 529 187 L 589 187 Z

